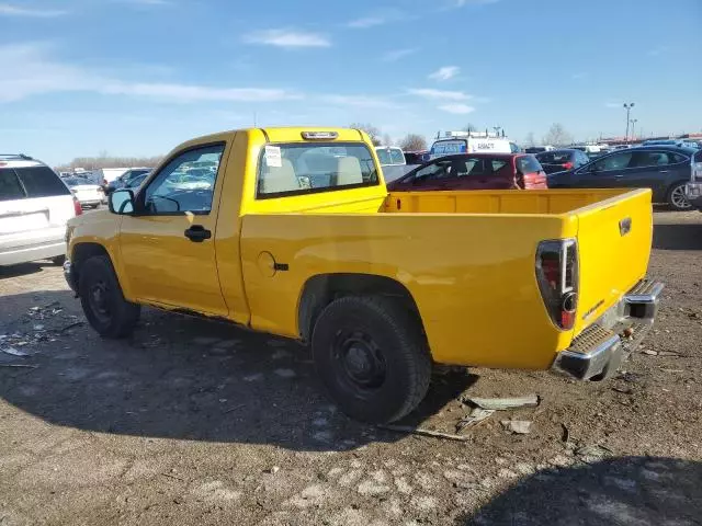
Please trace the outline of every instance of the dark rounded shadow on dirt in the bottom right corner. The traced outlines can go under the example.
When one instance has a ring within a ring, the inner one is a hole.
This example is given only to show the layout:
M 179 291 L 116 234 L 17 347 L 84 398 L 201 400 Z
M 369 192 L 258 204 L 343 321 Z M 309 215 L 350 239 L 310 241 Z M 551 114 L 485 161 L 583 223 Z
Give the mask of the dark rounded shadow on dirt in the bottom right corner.
M 702 462 L 619 457 L 541 471 L 456 525 L 695 525 L 702 517 Z

